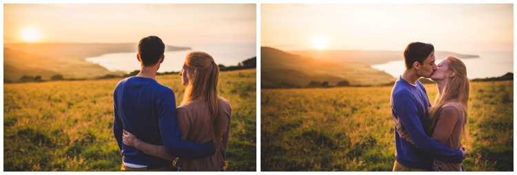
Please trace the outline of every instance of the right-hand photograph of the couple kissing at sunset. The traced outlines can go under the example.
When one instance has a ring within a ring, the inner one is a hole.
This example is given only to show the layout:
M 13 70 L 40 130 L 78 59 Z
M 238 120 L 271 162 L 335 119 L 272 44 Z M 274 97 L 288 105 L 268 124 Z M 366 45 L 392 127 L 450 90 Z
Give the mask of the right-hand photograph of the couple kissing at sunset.
M 513 4 L 261 4 L 261 172 L 513 172 Z

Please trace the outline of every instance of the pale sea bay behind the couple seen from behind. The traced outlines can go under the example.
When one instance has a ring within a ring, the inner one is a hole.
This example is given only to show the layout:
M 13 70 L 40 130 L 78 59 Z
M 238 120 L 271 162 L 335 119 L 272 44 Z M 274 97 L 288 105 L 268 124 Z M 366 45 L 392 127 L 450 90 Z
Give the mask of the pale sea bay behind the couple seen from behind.
M 205 51 L 210 54 L 217 65 L 236 66 L 239 62 L 256 56 L 256 43 L 253 44 L 199 44 L 189 46 L 190 50 L 165 51 L 165 59 L 158 72 L 181 71 L 185 56 L 190 51 Z M 140 70 L 140 62 L 136 58 L 137 52 L 112 53 L 102 56 L 86 58 L 88 62 L 99 64 L 110 71 Z

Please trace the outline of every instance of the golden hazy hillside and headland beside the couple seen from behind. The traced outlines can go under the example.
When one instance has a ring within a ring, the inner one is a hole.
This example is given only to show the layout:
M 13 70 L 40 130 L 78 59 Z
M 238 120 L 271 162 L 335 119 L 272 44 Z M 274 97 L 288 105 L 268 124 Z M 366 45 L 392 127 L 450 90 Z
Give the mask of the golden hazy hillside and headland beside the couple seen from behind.
M 8 43 L 3 48 L 3 79 L 16 81 L 22 75 L 41 75 L 48 80 L 52 75 L 65 78 L 96 78 L 106 74 L 122 75 L 108 71 L 100 65 L 86 62 L 85 58 L 103 54 L 134 52 L 135 43 Z M 165 51 L 190 49 L 165 46 Z

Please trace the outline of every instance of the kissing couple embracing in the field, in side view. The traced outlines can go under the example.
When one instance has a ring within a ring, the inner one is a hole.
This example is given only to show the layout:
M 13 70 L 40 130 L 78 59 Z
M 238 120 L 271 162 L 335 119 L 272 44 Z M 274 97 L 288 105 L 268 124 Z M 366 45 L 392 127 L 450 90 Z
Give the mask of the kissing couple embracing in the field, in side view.
M 404 51 L 406 70 L 392 89 L 396 161 L 393 171 L 464 171 L 469 152 L 466 132 L 469 79 L 465 64 L 447 56 L 435 64 L 434 46 L 410 43 Z M 418 78 L 431 78 L 438 94 L 431 106 Z

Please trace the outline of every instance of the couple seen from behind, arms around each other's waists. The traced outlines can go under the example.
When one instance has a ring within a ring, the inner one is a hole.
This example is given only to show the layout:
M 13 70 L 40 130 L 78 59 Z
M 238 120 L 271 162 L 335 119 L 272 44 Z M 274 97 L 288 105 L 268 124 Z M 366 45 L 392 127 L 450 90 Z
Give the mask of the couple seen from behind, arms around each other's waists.
M 113 133 L 121 170 L 224 171 L 232 109 L 219 97 L 219 67 L 205 52 L 187 54 L 179 73 L 186 90 L 176 108 L 174 91 L 155 80 L 164 51 L 161 38 L 142 38 L 136 55 L 140 73 L 114 90 Z

